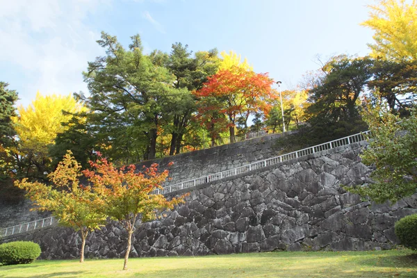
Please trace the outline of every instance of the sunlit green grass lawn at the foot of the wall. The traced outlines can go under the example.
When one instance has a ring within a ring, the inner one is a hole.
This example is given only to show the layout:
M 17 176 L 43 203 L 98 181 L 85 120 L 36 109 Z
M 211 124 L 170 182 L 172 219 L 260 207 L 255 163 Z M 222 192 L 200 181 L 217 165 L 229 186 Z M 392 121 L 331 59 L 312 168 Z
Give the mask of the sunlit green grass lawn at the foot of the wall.
M 0 266 L 0 277 L 417 277 L 417 255 L 374 252 L 267 252 L 224 256 L 35 261 Z

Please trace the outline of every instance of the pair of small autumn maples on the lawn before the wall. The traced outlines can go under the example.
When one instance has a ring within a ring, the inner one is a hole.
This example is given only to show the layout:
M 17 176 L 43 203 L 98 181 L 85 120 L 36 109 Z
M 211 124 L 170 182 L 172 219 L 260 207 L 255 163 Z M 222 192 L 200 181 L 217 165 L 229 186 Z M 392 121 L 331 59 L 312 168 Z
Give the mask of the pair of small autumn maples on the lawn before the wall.
M 183 202 L 184 195 L 167 200 L 163 195 L 152 194 L 162 188 L 161 183 L 168 176 L 167 170 L 158 172 L 157 164 L 138 172 L 135 165 L 116 168 L 101 154 L 97 155 L 97 161 L 90 161 L 91 170 L 81 171 L 81 165 L 67 151 L 56 170 L 48 175 L 52 186 L 27 179 L 16 181 L 15 186 L 26 190 L 26 197 L 30 197 L 36 209 L 51 211 L 61 225 L 81 231 L 80 262 L 83 262 L 88 231 L 99 229 L 106 218 L 119 221 L 129 234 L 126 269 L 136 220 L 155 219 L 163 208 L 173 208 Z M 81 173 L 88 179 L 88 186 L 80 183 Z

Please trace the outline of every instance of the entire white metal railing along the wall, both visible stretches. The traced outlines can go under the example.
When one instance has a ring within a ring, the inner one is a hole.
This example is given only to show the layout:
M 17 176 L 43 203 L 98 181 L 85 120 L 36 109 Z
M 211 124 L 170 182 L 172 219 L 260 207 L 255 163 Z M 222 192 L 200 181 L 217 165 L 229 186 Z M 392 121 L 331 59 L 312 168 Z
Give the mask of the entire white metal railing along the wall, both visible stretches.
M 220 179 L 224 179 L 228 177 L 233 177 L 238 174 L 250 172 L 252 170 L 260 169 L 263 167 L 268 167 L 270 165 L 277 165 L 281 162 L 288 161 L 293 158 L 299 158 L 302 156 L 307 156 L 309 154 L 315 154 L 316 152 L 322 152 L 327 149 L 334 149 L 336 147 L 342 147 L 342 146 L 350 145 L 352 143 L 362 142 L 366 140 L 365 134 L 368 134 L 368 133 L 369 131 L 364 131 L 361 133 L 354 134 L 352 136 L 347 136 L 347 137 L 340 138 L 337 140 L 325 142 L 325 143 L 322 143 L 320 145 L 316 145 L 313 147 L 299 149 L 295 152 L 290 152 L 288 154 L 283 154 L 281 156 L 275 156 L 272 158 L 265 159 L 263 161 L 256 161 L 254 163 L 236 167 L 231 170 L 217 172 L 215 174 L 208 174 L 204 177 L 199 177 L 197 179 L 191 179 L 189 181 L 175 183 L 170 186 L 164 186 L 163 189 L 154 190 L 152 194 L 166 194 L 166 193 L 172 193 L 174 191 L 185 189 L 185 188 L 193 188 L 195 186 L 198 186 L 199 184 L 208 183 L 210 181 L 218 181 Z M 43 227 L 51 226 L 52 224 L 55 224 L 57 222 L 58 222 L 58 218 L 51 216 L 49 218 L 35 220 L 35 221 L 27 222 L 24 224 L 19 224 L 13 227 L 0 229 L 0 236 L 10 236 L 13 234 L 22 233 L 24 231 L 40 229 Z

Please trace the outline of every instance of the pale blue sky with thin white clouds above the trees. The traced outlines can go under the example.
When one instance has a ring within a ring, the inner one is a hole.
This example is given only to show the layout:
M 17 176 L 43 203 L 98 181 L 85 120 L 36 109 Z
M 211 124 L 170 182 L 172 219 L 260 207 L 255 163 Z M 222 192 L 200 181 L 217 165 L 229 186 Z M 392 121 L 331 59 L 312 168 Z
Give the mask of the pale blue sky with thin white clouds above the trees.
M 127 47 L 139 33 L 149 52 L 172 43 L 193 51 L 234 50 L 256 72 L 294 89 L 335 54 L 368 54 L 372 31 L 359 26 L 368 0 L 0 0 L 0 81 L 27 106 L 44 95 L 88 92 L 81 72 L 104 54 L 106 31 Z

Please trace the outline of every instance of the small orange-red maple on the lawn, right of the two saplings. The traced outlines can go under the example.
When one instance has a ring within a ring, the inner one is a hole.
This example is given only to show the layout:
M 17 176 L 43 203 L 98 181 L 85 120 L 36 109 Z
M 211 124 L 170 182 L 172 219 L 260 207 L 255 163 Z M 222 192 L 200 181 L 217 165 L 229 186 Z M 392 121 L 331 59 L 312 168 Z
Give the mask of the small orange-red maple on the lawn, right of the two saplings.
M 167 170 L 158 172 L 156 163 L 138 172 L 135 165 L 117 169 L 101 154 L 98 156 L 96 162 L 90 161 L 92 170 L 84 170 L 83 173 L 99 195 L 97 204 L 101 211 L 120 222 L 127 231 L 123 265 L 123 270 L 126 270 L 136 221 L 139 218 L 142 222 L 155 219 L 158 211 L 174 208 L 174 205 L 183 202 L 184 196 L 168 201 L 163 195 L 152 194 L 152 191 L 162 188 L 161 183 L 168 176 Z

